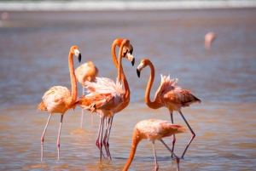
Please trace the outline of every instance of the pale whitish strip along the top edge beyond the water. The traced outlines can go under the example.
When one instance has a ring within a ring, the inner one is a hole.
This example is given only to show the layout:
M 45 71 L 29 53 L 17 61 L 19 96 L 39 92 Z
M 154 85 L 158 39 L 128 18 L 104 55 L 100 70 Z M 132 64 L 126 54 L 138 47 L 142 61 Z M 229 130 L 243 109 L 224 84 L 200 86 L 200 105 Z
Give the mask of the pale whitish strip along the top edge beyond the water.
M 227 9 L 255 8 L 255 0 L 247 1 L 2 1 L 0 10 L 157 10 L 157 9 Z

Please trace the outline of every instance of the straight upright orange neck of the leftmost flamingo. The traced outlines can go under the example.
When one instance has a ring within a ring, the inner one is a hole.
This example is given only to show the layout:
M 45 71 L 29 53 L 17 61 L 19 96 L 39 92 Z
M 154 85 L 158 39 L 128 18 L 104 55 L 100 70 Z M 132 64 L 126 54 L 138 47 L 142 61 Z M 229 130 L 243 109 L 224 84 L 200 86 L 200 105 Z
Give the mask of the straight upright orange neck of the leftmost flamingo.
M 70 80 L 71 80 L 71 101 L 69 102 L 69 105 L 72 105 L 78 96 L 78 87 L 74 72 L 74 66 L 73 66 L 73 54 L 69 53 L 68 55 L 68 67 L 69 67 L 69 73 L 70 73 Z

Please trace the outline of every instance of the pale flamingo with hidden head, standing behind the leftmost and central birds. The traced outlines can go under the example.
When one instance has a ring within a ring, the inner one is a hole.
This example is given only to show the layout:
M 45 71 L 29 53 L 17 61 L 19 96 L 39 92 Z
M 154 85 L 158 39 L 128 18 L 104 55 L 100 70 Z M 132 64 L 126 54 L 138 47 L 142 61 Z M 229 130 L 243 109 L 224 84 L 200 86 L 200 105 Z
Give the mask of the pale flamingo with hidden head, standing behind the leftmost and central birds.
M 93 64 L 92 61 L 88 61 L 82 64 L 75 70 L 77 82 L 79 82 L 83 87 L 83 95 L 84 95 L 84 87 L 86 86 L 84 82 L 85 81 L 95 82 L 96 77 L 98 76 L 98 72 L 99 72 L 98 69 Z M 84 120 L 84 110 L 82 109 L 80 128 L 83 128 L 83 120 Z M 92 116 L 91 116 L 91 125 L 93 125 Z

